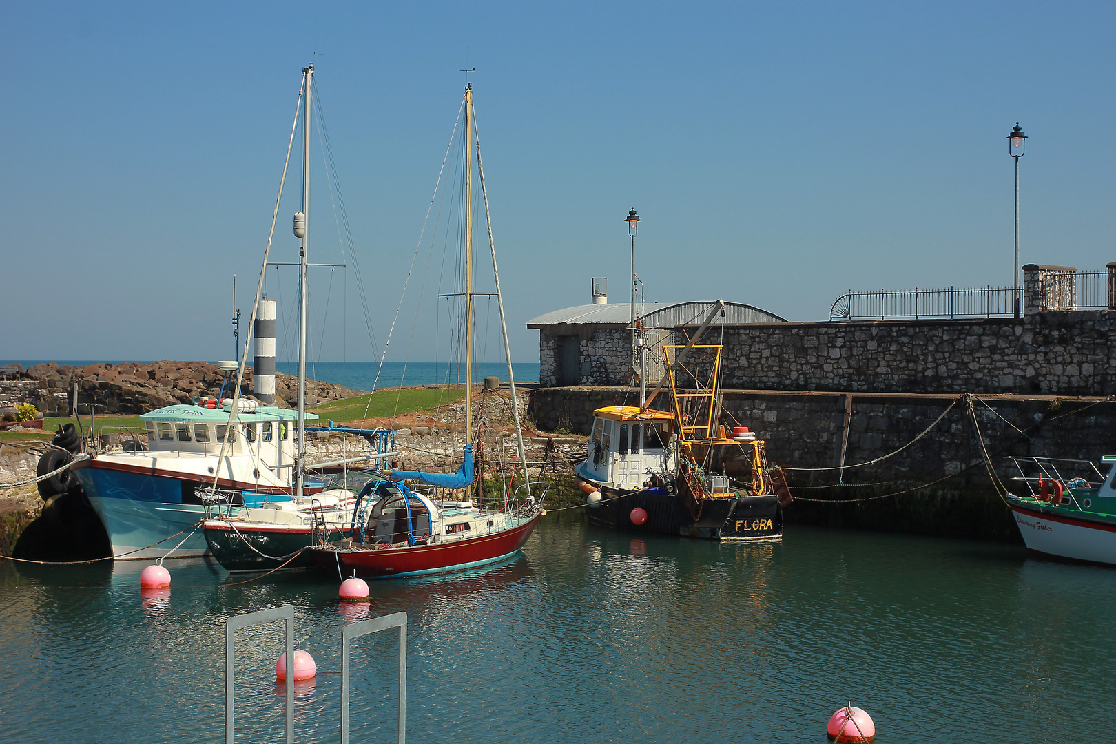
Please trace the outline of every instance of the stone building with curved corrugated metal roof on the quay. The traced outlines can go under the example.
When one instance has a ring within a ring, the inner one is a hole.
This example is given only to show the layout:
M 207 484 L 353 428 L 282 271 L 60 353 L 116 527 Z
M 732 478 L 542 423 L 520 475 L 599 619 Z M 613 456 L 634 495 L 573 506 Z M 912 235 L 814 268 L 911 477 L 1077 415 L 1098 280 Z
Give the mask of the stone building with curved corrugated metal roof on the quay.
M 648 379 L 662 376 L 662 345 L 684 340 L 682 329 L 701 325 L 713 301 L 637 306 L 636 319 L 648 337 Z M 642 313 L 642 315 L 639 315 Z M 538 328 L 540 383 L 556 385 L 627 385 L 633 373 L 629 305 L 578 305 L 527 321 Z M 718 326 L 787 322 L 742 302 L 725 302 Z

